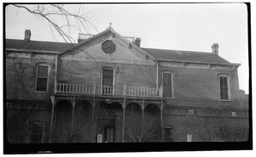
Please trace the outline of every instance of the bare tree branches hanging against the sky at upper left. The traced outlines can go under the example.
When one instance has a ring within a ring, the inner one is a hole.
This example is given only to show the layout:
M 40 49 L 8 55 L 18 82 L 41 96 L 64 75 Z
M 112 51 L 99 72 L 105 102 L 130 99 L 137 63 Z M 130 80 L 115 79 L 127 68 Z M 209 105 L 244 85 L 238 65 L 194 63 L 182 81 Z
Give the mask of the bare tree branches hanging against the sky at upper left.
M 50 28 L 53 27 L 54 30 L 67 43 L 75 42 L 73 37 L 70 35 L 71 29 L 78 30 L 79 32 L 89 33 L 89 27 L 92 26 L 96 30 L 96 27 L 90 22 L 90 20 L 87 20 L 88 17 L 86 16 L 86 14 L 81 12 L 81 6 L 79 6 L 78 13 L 71 13 L 66 8 L 64 8 L 63 4 L 49 4 L 49 7 L 45 6 L 44 4 L 38 4 L 35 8 L 28 8 L 25 5 L 12 5 L 17 8 L 26 9 L 27 12 L 33 14 L 38 20 L 47 20 L 49 22 Z M 57 23 L 54 20 L 58 18 L 64 18 L 63 25 Z M 67 28 L 67 31 L 63 30 L 63 28 Z

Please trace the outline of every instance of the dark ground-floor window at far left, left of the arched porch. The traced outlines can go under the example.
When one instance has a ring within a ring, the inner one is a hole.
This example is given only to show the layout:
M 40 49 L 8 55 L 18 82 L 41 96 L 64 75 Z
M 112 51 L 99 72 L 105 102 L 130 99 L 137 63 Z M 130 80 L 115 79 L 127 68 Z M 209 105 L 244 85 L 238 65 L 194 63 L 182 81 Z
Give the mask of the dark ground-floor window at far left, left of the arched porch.
M 44 124 L 34 123 L 32 125 L 31 143 L 42 143 Z

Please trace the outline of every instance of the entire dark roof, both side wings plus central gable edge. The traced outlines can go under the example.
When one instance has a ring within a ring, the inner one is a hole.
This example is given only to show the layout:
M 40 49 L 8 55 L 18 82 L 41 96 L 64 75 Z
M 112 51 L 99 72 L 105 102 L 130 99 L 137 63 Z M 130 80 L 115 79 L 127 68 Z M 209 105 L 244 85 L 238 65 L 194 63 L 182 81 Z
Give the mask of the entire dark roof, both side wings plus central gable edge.
M 6 39 L 6 48 L 7 49 L 17 49 L 22 51 L 36 52 L 44 51 L 48 53 L 66 53 L 73 48 L 77 48 L 83 45 L 85 42 L 90 41 L 91 39 L 96 38 L 97 36 L 102 36 L 104 33 L 112 31 L 116 36 L 120 36 L 116 31 L 106 30 L 92 36 L 83 42 L 76 43 L 67 43 L 67 42 L 41 42 L 41 41 L 26 41 L 26 40 L 17 40 L 17 39 Z M 124 38 L 126 41 L 127 39 Z M 194 63 L 207 63 L 207 64 L 230 64 L 227 60 L 219 57 L 215 53 L 201 53 L 201 52 L 192 52 L 192 51 L 179 51 L 179 50 L 167 50 L 167 49 L 158 49 L 158 48 L 138 48 L 135 44 L 128 41 L 133 45 L 133 48 L 136 48 L 137 51 L 141 53 L 147 53 L 148 56 L 152 56 L 156 60 L 166 60 L 166 61 L 182 61 L 182 62 L 194 62 Z

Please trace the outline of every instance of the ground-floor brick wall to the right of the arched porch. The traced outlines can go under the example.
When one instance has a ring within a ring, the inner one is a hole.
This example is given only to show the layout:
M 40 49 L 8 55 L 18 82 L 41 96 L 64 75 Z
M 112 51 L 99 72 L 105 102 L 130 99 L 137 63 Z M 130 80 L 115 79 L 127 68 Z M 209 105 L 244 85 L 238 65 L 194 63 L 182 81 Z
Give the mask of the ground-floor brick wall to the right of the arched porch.
M 188 109 L 187 109 L 188 112 Z M 247 117 L 165 115 L 164 126 L 172 126 L 174 142 L 247 141 Z M 221 132 L 221 129 L 223 132 Z

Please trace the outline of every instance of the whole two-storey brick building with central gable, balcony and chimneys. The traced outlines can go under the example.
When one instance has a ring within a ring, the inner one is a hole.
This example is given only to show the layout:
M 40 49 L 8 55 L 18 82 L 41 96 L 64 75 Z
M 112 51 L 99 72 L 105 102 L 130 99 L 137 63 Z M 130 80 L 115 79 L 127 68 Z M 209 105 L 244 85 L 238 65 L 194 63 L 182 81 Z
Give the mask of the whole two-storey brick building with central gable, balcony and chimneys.
M 6 39 L 9 143 L 247 141 L 240 64 L 216 43 L 212 53 L 141 48 L 111 27 L 77 44 L 31 36 Z

